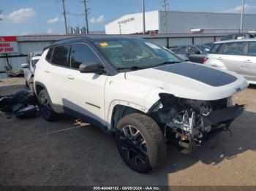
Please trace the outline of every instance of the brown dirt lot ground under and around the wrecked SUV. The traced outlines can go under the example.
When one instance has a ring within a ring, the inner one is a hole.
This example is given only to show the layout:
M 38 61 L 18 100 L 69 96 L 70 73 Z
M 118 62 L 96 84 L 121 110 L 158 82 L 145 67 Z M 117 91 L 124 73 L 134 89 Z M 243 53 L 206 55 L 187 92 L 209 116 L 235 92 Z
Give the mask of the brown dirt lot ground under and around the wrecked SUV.
M 25 88 L 0 82 L 0 95 Z M 233 98 L 246 111 L 189 155 L 168 145 L 167 160 L 151 174 L 138 174 L 121 160 L 112 136 L 72 117 L 19 120 L 0 115 L 1 185 L 256 185 L 256 86 Z

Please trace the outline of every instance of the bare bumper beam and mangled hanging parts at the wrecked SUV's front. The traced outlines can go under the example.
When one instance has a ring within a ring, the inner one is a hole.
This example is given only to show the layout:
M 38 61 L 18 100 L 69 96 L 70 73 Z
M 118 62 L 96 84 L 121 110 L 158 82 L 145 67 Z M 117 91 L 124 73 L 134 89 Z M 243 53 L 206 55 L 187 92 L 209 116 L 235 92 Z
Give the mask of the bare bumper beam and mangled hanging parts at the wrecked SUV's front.
M 182 120 L 168 122 L 167 129 L 175 134 L 179 146 L 184 148 L 182 152 L 189 153 L 203 142 L 208 133 L 229 130 L 231 122 L 243 112 L 244 105 L 228 106 L 207 114 L 185 111 Z

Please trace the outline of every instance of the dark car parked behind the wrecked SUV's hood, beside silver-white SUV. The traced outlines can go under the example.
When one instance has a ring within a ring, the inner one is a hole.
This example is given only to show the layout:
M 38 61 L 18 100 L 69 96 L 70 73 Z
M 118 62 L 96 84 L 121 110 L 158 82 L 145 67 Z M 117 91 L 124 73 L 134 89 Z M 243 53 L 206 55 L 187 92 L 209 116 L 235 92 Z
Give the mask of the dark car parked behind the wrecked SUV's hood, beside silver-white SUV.
M 195 63 L 203 63 L 206 59 L 206 54 L 211 50 L 211 47 L 206 45 L 183 45 L 172 47 L 170 50 L 177 55 L 185 55 L 189 61 Z

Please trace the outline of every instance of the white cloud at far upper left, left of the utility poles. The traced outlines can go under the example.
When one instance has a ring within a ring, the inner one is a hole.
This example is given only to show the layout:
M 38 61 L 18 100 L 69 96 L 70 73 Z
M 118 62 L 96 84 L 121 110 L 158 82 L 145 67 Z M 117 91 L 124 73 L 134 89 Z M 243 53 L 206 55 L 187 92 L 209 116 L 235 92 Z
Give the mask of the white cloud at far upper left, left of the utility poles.
M 11 12 L 9 15 L 3 15 L 4 19 L 12 21 L 12 23 L 25 23 L 34 20 L 36 12 L 32 8 L 23 8 Z

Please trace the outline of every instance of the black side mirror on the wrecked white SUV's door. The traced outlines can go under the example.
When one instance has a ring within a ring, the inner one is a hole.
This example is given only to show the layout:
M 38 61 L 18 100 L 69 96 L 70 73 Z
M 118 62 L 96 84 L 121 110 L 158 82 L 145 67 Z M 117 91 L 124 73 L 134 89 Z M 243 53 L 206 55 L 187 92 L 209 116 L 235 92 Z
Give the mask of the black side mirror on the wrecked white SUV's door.
M 102 73 L 105 72 L 105 69 L 99 63 L 88 62 L 88 63 L 81 63 L 80 66 L 79 66 L 79 71 L 81 73 L 102 74 Z

